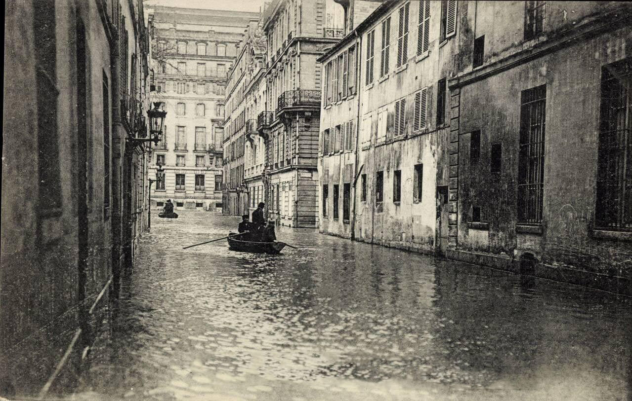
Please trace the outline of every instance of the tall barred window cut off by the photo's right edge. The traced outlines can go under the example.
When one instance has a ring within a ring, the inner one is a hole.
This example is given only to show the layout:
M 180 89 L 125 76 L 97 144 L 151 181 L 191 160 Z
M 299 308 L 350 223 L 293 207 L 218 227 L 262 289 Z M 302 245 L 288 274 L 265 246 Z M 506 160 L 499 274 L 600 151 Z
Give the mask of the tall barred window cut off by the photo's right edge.
M 632 58 L 602 67 L 597 226 L 632 231 Z

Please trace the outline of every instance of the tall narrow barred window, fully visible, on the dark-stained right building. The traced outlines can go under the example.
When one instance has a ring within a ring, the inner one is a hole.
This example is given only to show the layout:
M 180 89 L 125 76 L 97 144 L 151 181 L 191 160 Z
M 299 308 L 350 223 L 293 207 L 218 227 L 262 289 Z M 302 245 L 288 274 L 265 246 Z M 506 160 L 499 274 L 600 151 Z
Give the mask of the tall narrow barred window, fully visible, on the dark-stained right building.
M 546 85 L 521 93 L 518 155 L 518 221 L 521 223 L 542 222 L 546 97 Z

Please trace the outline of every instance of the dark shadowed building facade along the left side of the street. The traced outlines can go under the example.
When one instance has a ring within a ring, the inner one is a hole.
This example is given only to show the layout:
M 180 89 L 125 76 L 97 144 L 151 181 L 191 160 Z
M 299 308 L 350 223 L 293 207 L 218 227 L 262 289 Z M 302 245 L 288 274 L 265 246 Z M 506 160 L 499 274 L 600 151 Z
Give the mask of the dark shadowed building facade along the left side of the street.
M 149 42 L 140 0 L 9 2 L 4 34 L 0 391 L 47 398 L 147 224 Z

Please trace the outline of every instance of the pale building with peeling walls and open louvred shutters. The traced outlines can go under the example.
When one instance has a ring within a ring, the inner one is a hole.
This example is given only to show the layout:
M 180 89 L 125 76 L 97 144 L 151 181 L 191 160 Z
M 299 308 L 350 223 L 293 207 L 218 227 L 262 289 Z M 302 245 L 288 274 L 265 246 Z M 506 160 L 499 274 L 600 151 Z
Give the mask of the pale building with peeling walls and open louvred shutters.
M 442 4 L 386 1 L 320 58 L 320 231 L 445 252 L 456 38 Z

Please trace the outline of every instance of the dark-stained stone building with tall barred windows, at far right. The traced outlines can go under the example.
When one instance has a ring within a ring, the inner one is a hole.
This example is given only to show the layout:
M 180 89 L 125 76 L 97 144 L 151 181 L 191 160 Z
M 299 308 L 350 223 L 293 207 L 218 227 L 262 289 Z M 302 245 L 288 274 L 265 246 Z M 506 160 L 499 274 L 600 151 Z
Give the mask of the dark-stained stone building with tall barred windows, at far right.
M 632 7 L 459 2 L 457 20 L 449 257 L 632 294 Z

